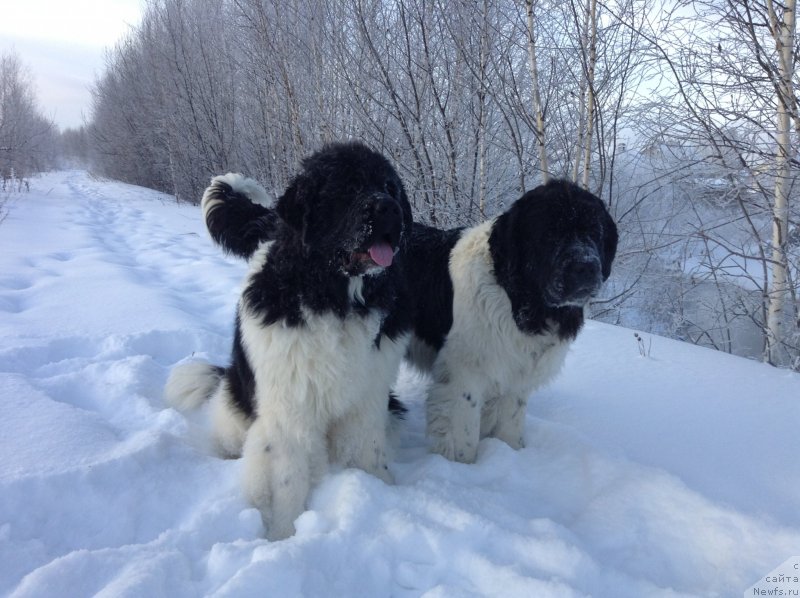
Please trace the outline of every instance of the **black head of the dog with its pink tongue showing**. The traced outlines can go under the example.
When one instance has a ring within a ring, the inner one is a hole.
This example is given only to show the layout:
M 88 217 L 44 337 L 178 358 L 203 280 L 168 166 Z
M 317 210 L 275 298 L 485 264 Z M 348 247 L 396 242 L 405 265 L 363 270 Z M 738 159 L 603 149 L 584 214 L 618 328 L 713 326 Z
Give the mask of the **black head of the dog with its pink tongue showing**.
M 324 147 L 303 161 L 276 205 L 302 251 L 348 276 L 392 265 L 411 228 L 403 183 L 381 154 L 361 143 Z

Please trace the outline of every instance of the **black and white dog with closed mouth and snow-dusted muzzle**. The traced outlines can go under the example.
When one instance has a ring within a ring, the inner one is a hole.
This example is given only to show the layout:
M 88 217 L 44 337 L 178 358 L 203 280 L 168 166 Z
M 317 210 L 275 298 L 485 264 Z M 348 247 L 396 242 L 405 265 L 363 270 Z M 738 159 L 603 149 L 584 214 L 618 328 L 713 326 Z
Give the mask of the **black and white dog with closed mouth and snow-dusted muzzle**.
M 435 452 L 471 463 L 487 436 L 524 446 L 528 398 L 563 365 L 616 249 L 603 202 L 566 181 L 472 228 L 414 225 L 409 358 L 433 373 L 426 411 Z

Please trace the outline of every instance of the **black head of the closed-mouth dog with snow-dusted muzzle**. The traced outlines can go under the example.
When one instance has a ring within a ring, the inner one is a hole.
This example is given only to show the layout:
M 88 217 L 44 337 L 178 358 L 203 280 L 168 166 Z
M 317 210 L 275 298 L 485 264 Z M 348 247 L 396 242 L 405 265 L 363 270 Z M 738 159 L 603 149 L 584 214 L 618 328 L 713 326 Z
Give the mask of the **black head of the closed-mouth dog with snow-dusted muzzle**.
M 540 332 L 544 320 L 583 308 L 600 290 L 611 274 L 617 227 L 600 198 L 551 181 L 498 217 L 490 248 L 517 325 Z

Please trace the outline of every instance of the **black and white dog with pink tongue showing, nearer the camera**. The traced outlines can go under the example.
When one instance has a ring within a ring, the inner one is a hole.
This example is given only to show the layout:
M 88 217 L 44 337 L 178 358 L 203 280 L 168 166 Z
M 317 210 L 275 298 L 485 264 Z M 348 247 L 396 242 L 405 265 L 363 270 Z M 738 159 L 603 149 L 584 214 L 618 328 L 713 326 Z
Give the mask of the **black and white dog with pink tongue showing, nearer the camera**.
M 266 200 L 240 175 L 206 190 L 212 237 L 249 260 L 232 360 L 177 366 L 165 395 L 179 409 L 211 400 L 216 443 L 243 455 L 245 494 L 277 539 L 294 533 L 329 462 L 391 481 L 387 397 L 410 335 L 411 209 L 394 168 L 358 143 L 323 148 L 274 211 Z

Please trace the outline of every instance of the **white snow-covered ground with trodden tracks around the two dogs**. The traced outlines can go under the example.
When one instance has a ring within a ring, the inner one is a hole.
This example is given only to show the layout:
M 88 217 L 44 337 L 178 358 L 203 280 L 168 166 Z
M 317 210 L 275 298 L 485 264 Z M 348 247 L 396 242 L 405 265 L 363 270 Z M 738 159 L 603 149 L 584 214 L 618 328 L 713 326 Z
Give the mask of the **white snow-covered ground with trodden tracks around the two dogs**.
M 589 322 L 527 448 L 333 471 L 262 539 L 170 367 L 226 359 L 245 266 L 197 208 L 72 171 L 0 224 L 0 595 L 742 596 L 800 554 L 800 376 Z M 791 586 L 795 588 L 795 586 Z M 800 584 L 796 586 L 800 593 Z

